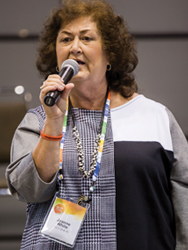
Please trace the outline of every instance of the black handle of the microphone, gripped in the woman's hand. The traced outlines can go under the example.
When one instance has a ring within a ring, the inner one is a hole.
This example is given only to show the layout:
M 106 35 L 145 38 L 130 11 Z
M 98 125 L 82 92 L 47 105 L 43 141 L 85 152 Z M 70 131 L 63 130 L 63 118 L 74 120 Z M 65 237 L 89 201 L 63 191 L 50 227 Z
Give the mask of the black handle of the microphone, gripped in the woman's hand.
M 74 71 L 71 67 L 64 67 L 59 72 L 59 75 L 64 80 L 64 84 L 67 84 L 70 81 L 70 79 L 73 77 Z M 47 106 L 52 107 L 59 99 L 61 93 L 62 91 L 59 91 L 57 89 L 54 91 L 49 91 L 44 97 L 44 103 Z

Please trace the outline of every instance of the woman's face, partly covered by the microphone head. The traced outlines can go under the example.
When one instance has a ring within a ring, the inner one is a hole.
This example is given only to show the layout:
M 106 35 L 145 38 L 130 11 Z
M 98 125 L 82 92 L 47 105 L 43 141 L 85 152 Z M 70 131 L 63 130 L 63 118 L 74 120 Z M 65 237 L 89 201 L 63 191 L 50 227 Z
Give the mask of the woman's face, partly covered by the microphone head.
M 79 72 L 71 82 L 106 86 L 108 60 L 102 48 L 97 25 L 90 17 L 83 17 L 62 26 L 56 40 L 57 64 L 66 59 L 74 59 L 79 64 Z

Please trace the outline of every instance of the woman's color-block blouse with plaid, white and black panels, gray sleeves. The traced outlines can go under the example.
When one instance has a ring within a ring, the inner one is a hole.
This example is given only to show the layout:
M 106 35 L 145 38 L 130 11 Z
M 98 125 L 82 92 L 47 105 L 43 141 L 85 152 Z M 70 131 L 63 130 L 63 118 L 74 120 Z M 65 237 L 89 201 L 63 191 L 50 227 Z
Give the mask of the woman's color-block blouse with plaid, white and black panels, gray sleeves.
M 73 108 L 90 168 L 102 111 Z M 78 170 L 78 153 L 68 116 L 63 181 L 51 183 L 37 174 L 32 150 L 45 113 L 29 110 L 13 139 L 7 180 L 13 196 L 28 203 L 24 250 L 69 249 L 39 234 L 57 190 L 77 200 L 88 195 L 91 179 Z M 99 177 L 74 250 L 185 250 L 188 247 L 188 146 L 166 107 L 138 95 L 111 109 Z

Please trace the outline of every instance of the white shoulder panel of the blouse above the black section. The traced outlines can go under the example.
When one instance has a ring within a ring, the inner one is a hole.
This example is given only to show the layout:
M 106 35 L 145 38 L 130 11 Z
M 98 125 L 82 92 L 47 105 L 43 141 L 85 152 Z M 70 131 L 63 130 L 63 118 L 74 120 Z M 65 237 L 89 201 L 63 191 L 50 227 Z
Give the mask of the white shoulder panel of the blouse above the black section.
M 115 141 L 155 141 L 172 151 L 166 107 L 143 95 L 111 110 Z

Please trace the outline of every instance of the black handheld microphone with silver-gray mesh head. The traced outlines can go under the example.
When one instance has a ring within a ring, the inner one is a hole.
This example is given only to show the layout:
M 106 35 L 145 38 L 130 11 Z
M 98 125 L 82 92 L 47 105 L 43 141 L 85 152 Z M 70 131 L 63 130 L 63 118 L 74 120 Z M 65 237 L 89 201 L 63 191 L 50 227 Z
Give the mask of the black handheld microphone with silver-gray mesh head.
M 78 71 L 78 63 L 75 60 L 67 59 L 62 63 L 59 75 L 64 80 L 64 84 L 67 84 L 73 76 L 78 74 Z M 45 104 L 52 107 L 59 99 L 61 93 L 62 91 L 59 90 L 49 91 L 44 97 Z

